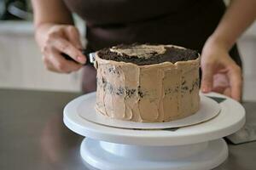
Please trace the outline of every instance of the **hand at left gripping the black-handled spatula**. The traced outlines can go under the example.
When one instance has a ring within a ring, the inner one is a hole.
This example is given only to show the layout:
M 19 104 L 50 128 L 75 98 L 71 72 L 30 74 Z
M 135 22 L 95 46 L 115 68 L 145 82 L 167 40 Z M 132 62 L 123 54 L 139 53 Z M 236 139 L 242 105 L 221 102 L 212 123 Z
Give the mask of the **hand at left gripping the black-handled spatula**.
M 79 31 L 72 25 L 44 24 L 36 29 L 36 39 L 43 53 L 44 65 L 49 71 L 70 73 L 78 71 L 86 62 Z M 65 59 L 62 54 L 73 60 Z

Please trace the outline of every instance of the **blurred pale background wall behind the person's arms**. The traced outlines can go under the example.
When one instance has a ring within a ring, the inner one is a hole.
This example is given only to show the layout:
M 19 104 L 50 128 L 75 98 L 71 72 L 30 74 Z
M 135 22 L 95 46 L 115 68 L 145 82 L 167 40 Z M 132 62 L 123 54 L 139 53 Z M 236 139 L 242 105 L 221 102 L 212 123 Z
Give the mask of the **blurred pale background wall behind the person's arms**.
M 64 75 L 44 68 L 27 2 L 0 0 L 0 88 L 79 91 L 81 71 Z M 83 34 L 83 22 L 74 18 Z M 256 23 L 240 37 L 238 45 L 244 64 L 244 99 L 256 99 Z

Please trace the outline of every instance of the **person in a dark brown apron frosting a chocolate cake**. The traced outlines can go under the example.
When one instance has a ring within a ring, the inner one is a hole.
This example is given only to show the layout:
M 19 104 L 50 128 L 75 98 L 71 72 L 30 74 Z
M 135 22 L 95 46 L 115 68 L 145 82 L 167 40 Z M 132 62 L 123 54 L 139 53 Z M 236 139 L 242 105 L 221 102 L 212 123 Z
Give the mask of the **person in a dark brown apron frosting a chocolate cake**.
M 32 0 L 36 39 L 50 71 L 69 73 L 85 57 L 72 12 L 86 21 L 88 52 L 119 43 L 176 44 L 201 52 L 201 90 L 241 99 L 241 59 L 236 39 L 255 20 L 253 0 Z M 68 54 L 78 63 L 64 59 Z M 96 71 L 84 66 L 84 92 L 96 90 Z

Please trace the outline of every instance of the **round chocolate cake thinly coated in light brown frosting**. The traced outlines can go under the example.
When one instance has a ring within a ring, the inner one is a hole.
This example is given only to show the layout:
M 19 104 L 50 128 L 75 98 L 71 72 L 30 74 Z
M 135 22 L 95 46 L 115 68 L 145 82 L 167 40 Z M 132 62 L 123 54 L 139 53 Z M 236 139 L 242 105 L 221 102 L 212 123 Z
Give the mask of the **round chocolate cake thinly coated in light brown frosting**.
M 173 45 L 131 44 L 96 53 L 96 110 L 114 119 L 169 122 L 199 109 L 199 54 Z

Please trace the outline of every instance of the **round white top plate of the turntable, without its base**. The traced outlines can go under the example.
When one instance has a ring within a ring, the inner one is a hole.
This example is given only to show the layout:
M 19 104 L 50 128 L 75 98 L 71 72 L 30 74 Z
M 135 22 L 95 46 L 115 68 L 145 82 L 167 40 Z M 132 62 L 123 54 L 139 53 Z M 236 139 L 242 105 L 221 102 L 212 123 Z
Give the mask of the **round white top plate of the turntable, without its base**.
M 221 94 L 207 94 L 226 98 L 219 106 L 221 111 L 218 116 L 207 122 L 201 122 L 187 127 L 158 130 L 139 130 L 120 127 L 109 127 L 86 120 L 79 114 L 79 107 L 86 100 L 95 98 L 95 93 L 85 94 L 73 99 L 64 109 L 64 122 L 71 130 L 90 139 L 98 139 L 121 144 L 143 145 L 181 145 L 195 144 L 213 139 L 219 139 L 230 133 L 236 132 L 245 123 L 245 110 L 235 100 Z M 203 94 L 201 94 L 203 95 Z M 91 98 L 90 98 L 91 97 Z M 87 102 L 88 103 L 88 102 Z M 91 103 L 94 105 L 94 103 Z M 92 111 L 88 107 L 88 112 Z

